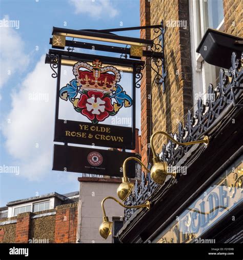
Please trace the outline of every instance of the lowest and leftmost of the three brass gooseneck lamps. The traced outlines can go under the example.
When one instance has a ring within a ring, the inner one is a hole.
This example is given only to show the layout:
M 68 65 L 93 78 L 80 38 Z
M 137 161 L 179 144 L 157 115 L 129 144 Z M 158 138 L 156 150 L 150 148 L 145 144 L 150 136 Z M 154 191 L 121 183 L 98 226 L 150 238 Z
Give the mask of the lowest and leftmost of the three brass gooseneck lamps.
M 147 208 L 148 210 L 150 209 L 150 202 L 148 200 L 146 201 L 145 204 L 141 204 L 141 205 L 137 205 L 137 206 L 126 206 L 114 197 L 109 196 L 109 197 L 104 198 L 101 203 L 102 210 L 103 210 L 103 222 L 99 226 L 99 234 L 100 234 L 100 236 L 102 236 L 105 239 L 107 239 L 107 237 L 111 234 L 111 229 L 112 229 L 112 221 L 109 221 L 109 218 L 107 217 L 105 208 L 104 208 L 104 202 L 107 199 L 115 200 L 120 206 L 122 206 L 124 208 Z

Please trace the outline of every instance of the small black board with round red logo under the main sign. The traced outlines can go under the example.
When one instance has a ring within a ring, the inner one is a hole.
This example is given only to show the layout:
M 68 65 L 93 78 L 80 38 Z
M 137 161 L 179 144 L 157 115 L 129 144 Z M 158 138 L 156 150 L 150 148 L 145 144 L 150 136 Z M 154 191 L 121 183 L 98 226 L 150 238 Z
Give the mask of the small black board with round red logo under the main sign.
M 54 144 L 53 168 L 56 171 L 123 177 L 123 162 L 135 153 Z M 126 164 L 127 176 L 135 177 L 135 161 Z

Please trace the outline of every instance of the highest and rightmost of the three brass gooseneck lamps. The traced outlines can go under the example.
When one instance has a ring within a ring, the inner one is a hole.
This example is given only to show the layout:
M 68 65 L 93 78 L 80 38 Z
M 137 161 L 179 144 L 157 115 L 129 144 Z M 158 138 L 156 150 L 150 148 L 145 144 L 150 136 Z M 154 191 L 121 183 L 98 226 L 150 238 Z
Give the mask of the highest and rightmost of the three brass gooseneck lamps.
M 167 175 L 172 175 L 175 178 L 176 173 L 168 173 L 167 172 L 167 169 L 168 169 L 167 162 L 160 161 L 159 156 L 157 156 L 157 154 L 155 152 L 153 141 L 154 141 L 154 137 L 158 134 L 167 136 L 170 140 L 172 140 L 174 143 L 176 143 L 178 145 L 191 145 L 191 144 L 196 144 L 196 143 L 205 143 L 206 145 L 209 144 L 208 136 L 205 136 L 204 139 L 201 139 L 201 140 L 180 143 L 180 142 L 176 141 L 174 138 L 172 138 L 169 134 L 167 134 L 166 132 L 163 132 L 163 131 L 159 131 L 159 132 L 152 134 L 152 136 L 150 137 L 150 145 L 151 145 L 151 150 L 153 153 L 153 163 L 154 164 L 150 170 L 150 176 L 151 176 L 152 180 L 154 182 L 158 183 L 159 185 L 163 185 L 165 183 Z

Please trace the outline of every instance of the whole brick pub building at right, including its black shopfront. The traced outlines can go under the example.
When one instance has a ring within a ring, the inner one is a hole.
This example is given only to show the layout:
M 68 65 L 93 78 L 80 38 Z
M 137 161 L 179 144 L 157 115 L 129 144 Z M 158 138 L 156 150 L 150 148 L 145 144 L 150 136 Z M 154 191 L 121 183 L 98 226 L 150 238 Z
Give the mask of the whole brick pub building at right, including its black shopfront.
M 176 169 L 176 178 L 167 176 L 163 184 L 156 184 L 144 174 L 125 203 L 134 207 L 149 200 L 152 207 L 125 210 L 125 225 L 116 234 L 119 243 L 204 243 L 200 241 L 205 239 L 242 243 L 243 90 L 235 88 L 243 85 L 242 4 L 240 0 L 140 0 L 141 26 L 164 23 L 167 71 L 163 93 L 154 82 L 153 61 L 143 58 L 147 66 L 141 81 L 142 161 L 152 161 L 150 136 L 157 131 L 180 143 L 207 136 L 209 145 L 175 145 L 156 136 L 159 160 Z M 204 42 L 205 51 L 211 47 L 214 59 L 221 64 L 231 61 L 231 67 L 209 64 L 197 52 L 209 31 L 225 38 L 214 49 L 213 40 L 211 46 Z M 157 35 L 154 29 L 140 31 L 147 40 Z M 234 42 L 230 45 L 225 39 Z M 215 49 L 225 46 L 228 53 L 219 57 Z

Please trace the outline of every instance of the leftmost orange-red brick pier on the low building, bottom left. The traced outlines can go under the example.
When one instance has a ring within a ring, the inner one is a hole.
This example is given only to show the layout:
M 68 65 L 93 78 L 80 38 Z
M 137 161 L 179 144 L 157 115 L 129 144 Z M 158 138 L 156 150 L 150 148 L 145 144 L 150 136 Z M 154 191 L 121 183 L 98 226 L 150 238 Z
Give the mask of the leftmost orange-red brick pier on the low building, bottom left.
M 30 238 L 30 217 L 32 213 L 21 213 L 17 216 L 16 243 L 28 243 Z

